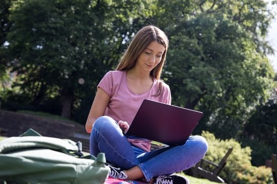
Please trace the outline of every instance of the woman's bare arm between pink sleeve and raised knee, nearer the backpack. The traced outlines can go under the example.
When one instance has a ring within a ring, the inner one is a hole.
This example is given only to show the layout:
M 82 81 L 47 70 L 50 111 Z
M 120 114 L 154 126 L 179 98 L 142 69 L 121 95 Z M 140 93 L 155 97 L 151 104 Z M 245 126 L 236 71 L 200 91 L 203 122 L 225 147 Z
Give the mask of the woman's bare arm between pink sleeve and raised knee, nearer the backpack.
M 86 130 L 88 133 L 91 132 L 92 125 L 95 122 L 95 120 L 98 117 L 101 117 L 104 115 L 109 101 L 110 101 L 110 97 L 108 96 L 108 94 L 102 88 L 99 87 L 97 89 L 96 95 L 92 102 L 92 105 L 91 105 L 91 108 L 89 111 L 89 115 L 88 115 L 88 119 L 86 122 Z

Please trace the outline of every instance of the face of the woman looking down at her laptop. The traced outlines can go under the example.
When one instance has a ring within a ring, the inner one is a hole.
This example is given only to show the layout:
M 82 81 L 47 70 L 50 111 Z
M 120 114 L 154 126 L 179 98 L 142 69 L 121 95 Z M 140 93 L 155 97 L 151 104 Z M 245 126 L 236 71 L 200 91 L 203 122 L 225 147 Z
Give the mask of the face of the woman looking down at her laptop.
M 164 51 L 164 45 L 161 43 L 157 41 L 150 42 L 138 56 L 135 66 L 150 73 L 161 62 Z

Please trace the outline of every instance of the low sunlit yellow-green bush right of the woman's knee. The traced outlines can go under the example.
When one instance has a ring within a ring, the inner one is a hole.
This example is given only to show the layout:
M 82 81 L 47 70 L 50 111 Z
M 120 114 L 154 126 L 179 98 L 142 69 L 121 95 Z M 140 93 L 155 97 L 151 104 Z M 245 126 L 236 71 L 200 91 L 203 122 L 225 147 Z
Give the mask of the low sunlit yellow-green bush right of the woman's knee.
M 251 165 L 250 147 L 242 148 L 240 143 L 234 139 L 220 140 L 208 132 L 203 131 L 204 136 L 209 144 L 206 159 L 214 163 L 219 163 L 226 154 L 228 148 L 232 147 L 233 151 L 227 159 L 227 164 L 220 172 L 220 176 L 227 183 L 272 183 L 272 174 L 270 168 L 255 167 Z M 210 166 L 206 166 L 206 169 Z

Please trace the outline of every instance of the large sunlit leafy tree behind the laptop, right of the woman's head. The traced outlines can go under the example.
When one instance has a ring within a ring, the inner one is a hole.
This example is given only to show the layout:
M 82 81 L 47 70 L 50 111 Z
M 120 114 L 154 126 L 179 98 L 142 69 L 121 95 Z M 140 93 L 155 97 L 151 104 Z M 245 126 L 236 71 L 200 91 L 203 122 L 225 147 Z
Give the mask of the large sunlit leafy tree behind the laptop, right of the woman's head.
M 164 79 L 172 102 L 204 111 L 195 133 L 238 137 L 272 89 L 273 68 L 265 55 L 272 49 L 263 39 L 272 14 L 263 1 L 185 1 L 177 10 L 160 3 L 171 17 L 166 21 L 162 13 L 157 21 L 164 20 L 169 34 Z

